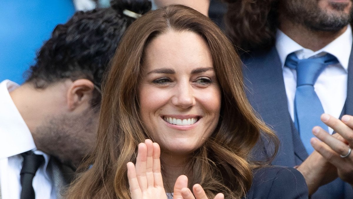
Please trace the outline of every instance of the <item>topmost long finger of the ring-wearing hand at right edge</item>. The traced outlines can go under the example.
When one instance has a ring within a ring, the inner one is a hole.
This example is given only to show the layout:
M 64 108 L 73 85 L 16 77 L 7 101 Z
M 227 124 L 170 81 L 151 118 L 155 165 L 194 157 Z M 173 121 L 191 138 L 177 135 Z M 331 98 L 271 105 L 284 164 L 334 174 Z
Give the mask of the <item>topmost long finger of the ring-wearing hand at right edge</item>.
M 346 117 L 345 117 L 346 118 Z M 339 133 L 349 144 L 353 145 L 353 130 L 341 120 L 334 118 L 329 114 L 322 114 L 323 123 L 331 127 L 336 133 Z

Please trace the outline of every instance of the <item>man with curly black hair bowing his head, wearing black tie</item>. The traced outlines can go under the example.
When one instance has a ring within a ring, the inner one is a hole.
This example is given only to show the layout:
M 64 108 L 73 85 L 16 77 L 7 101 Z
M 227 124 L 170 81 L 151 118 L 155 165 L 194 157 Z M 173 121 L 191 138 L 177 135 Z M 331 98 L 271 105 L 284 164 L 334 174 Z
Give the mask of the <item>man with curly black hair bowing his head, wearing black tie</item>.
M 53 30 L 23 85 L 0 83 L 0 198 L 61 198 L 93 150 L 110 58 L 128 25 L 150 8 L 148 0 L 115 1 L 76 12 Z

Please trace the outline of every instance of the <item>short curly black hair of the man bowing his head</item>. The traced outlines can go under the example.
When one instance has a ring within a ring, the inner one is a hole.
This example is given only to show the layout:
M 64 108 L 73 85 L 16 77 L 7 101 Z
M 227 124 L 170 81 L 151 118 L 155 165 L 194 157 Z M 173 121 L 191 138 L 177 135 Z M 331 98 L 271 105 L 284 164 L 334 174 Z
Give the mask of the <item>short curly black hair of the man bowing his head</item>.
M 148 0 L 112 0 L 110 4 L 109 8 L 76 12 L 65 24 L 57 25 L 37 52 L 25 83 L 44 89 L 64 79 L 84 78 L 100 89 L 122 34 L 135 20 L 123 11 L 144 14 L 151 9 Z M 92 106 L 100 104 L 100 93 L 94 92 Z

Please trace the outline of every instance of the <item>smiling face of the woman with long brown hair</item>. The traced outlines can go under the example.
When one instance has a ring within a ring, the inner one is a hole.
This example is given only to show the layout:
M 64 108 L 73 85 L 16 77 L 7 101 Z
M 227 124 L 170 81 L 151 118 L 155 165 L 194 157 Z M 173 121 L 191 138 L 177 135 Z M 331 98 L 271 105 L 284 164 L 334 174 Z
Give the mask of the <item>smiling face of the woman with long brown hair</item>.
M 170 30 L 146 46 L 142 67 L 140 115 L 152 138 L 168 153 L 195 151 L 215 130 L 221 108 L 206 42 Z

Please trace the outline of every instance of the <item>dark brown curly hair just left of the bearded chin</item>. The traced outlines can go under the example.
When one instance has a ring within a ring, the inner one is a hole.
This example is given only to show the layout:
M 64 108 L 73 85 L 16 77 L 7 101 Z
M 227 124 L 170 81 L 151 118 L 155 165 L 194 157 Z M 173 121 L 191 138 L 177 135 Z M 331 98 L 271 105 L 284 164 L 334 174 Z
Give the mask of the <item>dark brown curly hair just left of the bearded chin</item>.
M 223 0 L 226 33 L 241 51 L 268 49 L 274 45 L 279 0 Z

